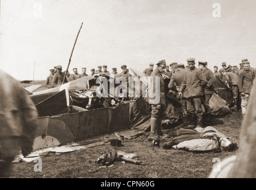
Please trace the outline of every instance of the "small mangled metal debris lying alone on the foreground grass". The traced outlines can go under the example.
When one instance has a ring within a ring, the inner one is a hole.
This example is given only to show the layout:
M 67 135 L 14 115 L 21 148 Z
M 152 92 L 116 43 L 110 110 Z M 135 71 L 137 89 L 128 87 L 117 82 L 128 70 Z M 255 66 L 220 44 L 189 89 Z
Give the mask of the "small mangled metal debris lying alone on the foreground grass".
M 132 154 L 131 157 L 136 156 L 136 154 Z M 113 148 L 110 148 L 107 153 L 102 154 L 98 157 L 97 160 L 89 160 L 88 163 L 91 166 L 95 167 L 113 167 L 114 162 L 122 162 L 122 163 L 132 163 L 137 165 L 145 165 L 141 161 L 132 159 L 129 157 L 129 154 L 124 152 L 117 152 Z M 93 170 L 94 171 L 94 170 Z M 96 171 L 96 170 L 95 170 Z M 92 172 L 92 170 L 88 170 L 88 172 Z

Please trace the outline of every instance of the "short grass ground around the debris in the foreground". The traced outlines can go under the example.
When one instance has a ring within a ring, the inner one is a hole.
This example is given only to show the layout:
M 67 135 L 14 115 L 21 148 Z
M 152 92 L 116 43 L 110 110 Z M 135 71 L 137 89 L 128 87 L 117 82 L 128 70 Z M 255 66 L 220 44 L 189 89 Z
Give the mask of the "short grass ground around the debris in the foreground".
M 205 126 L 213 126 L 227 137 L 238 140 L 241 130 L 241 110 L 226 116 L 214 116 Z M 167 133 L 168 129 L 164 129 Z M 132 140 L 124 140 L 116 151 L 136 153 L 135 159 L 145 165 L 114 162 L 112 167 L 99 169 L 89 164 L 113 148 L 109 143 L 71 153 L 42 157 L 42 172 L 33 170 L 35 163 L 13 163 L 11 178 L 208 178 L 213 159 L 220 160 L 236 154 L 232 152 L 193 153 L 165 150 L 147 140 L 149 132 Z

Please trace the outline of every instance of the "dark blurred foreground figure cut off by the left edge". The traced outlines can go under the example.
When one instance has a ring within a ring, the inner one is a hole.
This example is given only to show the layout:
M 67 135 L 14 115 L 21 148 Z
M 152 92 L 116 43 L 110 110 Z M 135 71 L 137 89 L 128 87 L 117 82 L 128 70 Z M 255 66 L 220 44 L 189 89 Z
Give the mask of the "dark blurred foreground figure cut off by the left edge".
M 33 150 L 38 112 L 24 88 L 0 69 L 0 178 L 10 176 L 10 166 L 20 150 Z

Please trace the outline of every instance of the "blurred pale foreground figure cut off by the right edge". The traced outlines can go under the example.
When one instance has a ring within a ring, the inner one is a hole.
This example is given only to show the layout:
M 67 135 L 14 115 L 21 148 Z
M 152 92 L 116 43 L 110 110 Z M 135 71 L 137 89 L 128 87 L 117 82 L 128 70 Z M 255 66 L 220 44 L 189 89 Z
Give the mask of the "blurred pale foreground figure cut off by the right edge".
M 220 162 L 220 170 L 209 178 L 256 178 L 256 80 L 254 81 L 240 132 L 238 154 Z

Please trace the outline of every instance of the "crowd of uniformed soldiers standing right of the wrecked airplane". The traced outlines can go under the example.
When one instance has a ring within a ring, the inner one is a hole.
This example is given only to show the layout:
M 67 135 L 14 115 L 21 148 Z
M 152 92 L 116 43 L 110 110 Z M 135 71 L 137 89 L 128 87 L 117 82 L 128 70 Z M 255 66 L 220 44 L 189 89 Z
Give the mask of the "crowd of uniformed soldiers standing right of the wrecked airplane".
M 214 66 L 214 72 L 207 68 L 207 62 L 198 61 L 195 66 L 195 58 L 186 59 L 188 65 L 173 62 L 166 64 L 165 60 L 158 62 L 157 68 L 150 64 L 143 72 L 151 77 L 160 77 L 160 102 L 151 104 L 151 132 L 148 140 L 156 140 L 163 135 L 161 131 L 161 117 L 166 107 L 166 90 L 164 78 L 170 78 L 168 88 L 171 93 L 180 100 L 183 109 L 183 121 L 188 128 L 202 132 L 203 118 L 210 119 L 211 108 L 209 101 L 214 93 L 216 77 L 220 78 L 227 87 L 232 90 L 233 110 L 238 111 L 238 98 L 241 96 L 242 115 L 245 115 L 249 100 L 249 94 L 256 75 L 255 69 L 250 66 L 248 59 L 242 59 L 240 68 L 223 62 L 219 71 Z M 171 71 L 169 70 L 169 66 Z M 149 94 L 150 96 L 150 94 Z M 203 106 L 202 106 L 203 105 Z M 204 110 L 203 110 L 204 109 Z

